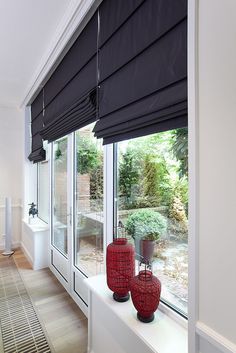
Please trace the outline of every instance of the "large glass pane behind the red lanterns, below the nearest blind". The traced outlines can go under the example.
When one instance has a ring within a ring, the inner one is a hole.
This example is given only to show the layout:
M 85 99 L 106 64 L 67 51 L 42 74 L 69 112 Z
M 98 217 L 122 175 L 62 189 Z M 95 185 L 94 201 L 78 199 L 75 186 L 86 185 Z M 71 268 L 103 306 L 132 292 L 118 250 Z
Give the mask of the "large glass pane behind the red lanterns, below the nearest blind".
M 151 264 L 162 299 L 186 315 L 188 131 L 122 141 L 116 148 L 115 226 L 135 245 L 137 264 Z

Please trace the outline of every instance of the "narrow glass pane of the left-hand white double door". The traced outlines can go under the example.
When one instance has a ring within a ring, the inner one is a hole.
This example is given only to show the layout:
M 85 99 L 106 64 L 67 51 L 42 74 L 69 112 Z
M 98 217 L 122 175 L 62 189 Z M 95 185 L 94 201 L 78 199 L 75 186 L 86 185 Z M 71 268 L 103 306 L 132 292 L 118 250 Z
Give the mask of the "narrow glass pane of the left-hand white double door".
M 53 245 L 67 255 L 67 137 L 53 143 Z

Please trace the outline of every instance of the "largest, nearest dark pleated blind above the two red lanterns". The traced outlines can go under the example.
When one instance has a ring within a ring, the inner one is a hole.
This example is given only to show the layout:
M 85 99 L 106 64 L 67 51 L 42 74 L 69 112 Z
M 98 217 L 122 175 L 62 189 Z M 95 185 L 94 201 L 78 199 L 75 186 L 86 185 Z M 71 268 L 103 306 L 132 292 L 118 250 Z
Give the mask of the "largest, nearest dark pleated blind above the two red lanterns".
M 104 0 L 99 121 L 104 144 L 187 125 L 187 0 Z

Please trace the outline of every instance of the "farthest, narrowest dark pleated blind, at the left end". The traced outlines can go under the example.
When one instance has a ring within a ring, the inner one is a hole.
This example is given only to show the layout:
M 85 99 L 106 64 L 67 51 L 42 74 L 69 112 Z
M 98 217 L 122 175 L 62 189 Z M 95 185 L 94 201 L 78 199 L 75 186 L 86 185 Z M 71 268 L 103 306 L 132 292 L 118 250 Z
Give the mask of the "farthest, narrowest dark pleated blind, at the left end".
M 45 160 L 46 152 L 43 149 L 43 140 L 40 131 L 43 127 L 43 90 L 31 104 L 31 153 L 28 159 L 37 163 Z

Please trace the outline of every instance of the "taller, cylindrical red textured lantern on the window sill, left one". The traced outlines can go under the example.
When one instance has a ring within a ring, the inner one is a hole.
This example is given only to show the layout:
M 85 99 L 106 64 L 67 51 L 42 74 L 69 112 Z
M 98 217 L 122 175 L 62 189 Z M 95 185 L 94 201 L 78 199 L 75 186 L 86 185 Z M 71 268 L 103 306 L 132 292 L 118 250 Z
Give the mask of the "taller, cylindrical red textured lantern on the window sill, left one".
M 126 238 L 117 238 L 107 247 L 107 285 L 118 302 L 129 300 L 130 280 L 134 277 L 134 247 Z

